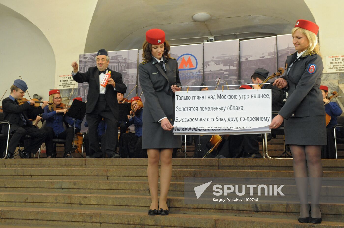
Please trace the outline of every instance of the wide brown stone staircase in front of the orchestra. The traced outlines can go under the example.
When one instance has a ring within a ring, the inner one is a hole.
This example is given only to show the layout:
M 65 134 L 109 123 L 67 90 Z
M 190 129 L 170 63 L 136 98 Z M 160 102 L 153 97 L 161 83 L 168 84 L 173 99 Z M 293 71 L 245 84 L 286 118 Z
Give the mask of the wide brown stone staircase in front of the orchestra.
M 323 159 L 344 178 L 343 159 Z M 147 159 L 1 159 L 1 228 L 310 227 L 295 204 L 184 204 L 184 177 L 293 177 L 291 159 L 173 159 L 169 216 L 148 216 Z M 322 224 L 344 227 L 344 205 L 322 204 Z

